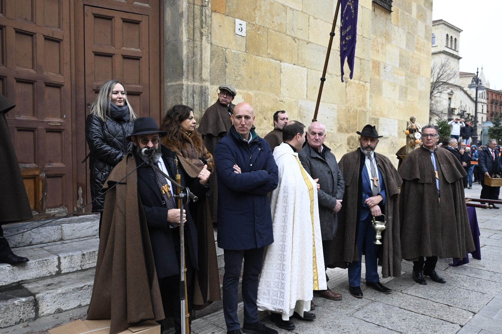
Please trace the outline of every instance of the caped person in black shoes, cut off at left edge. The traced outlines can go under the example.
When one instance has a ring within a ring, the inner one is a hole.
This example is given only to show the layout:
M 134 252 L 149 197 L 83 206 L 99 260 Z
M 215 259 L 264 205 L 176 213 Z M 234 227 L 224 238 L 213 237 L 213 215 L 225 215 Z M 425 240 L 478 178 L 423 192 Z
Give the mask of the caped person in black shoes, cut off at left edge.
M 6 114 L 16 105 L 0 94 L 0 263 L 17 265 L 28 258 L 13 253 L 4 237 L 2 225 L 33 218 L 30 202 L 19 169 L 16 150 L 12 144 Z

